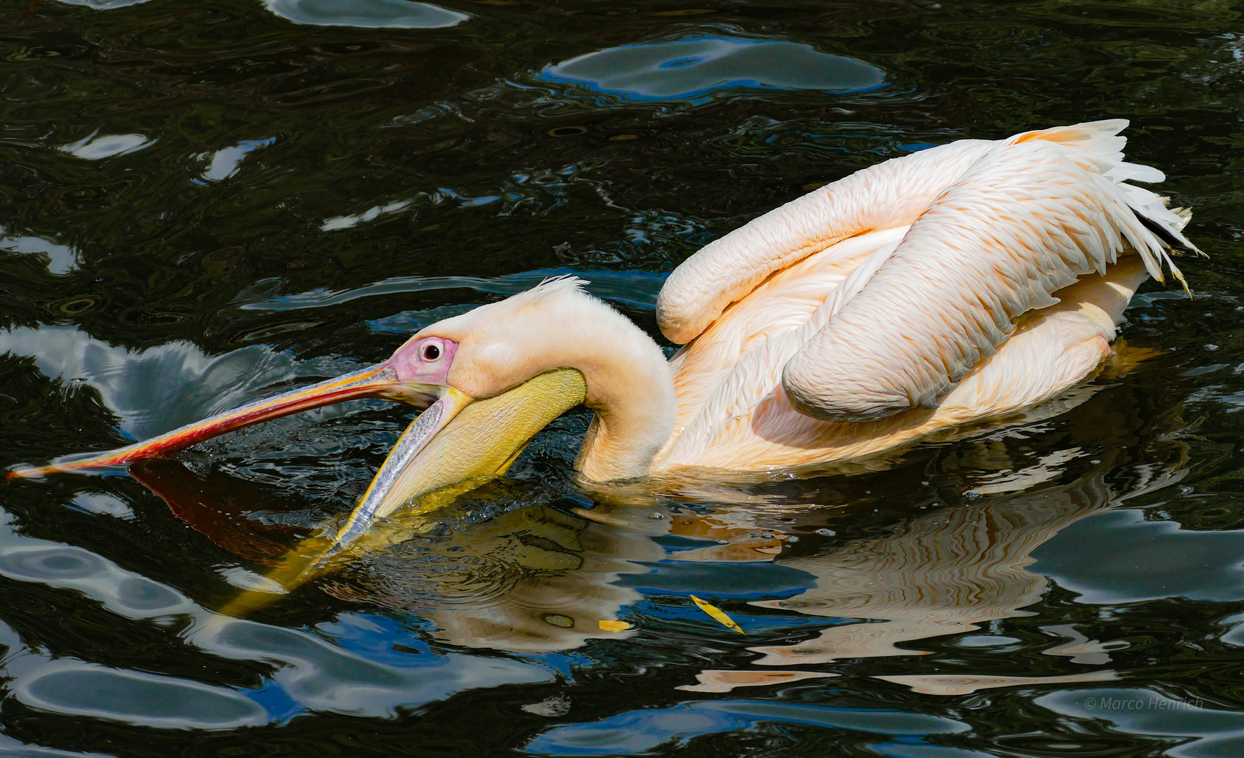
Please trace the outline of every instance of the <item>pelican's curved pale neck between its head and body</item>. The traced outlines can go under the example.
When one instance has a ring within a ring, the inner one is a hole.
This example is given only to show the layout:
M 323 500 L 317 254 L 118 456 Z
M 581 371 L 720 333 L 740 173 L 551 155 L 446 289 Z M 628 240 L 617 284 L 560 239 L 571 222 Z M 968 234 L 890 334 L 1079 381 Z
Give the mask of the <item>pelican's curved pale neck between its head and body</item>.
M 578 353 L 572 367 L 583 372 L 585 405 L 596 418 L 575 468 L 591 482 L 643 477 L 674 431 L 673 375 L 652 337 L 607 305 L 590 302 L 595 307 L 571 326 Z

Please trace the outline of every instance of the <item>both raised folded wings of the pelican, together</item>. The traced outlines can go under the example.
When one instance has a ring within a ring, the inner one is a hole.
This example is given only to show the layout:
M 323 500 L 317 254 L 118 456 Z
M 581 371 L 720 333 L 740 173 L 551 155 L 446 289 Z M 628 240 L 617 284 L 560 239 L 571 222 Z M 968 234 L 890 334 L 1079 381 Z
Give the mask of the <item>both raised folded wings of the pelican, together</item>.
M 658 299 L 662 331 L 689 341 L 775 271 L 911 224 L 799 330 L 782 385 L 795 408 L 827 421 L 931 406 L 993 355 L 1018 316 L 1057 302 L 1055 290 L 1122 253 L 1138 253 L 1158 280 L 1164 265 L 1183 281 L 1167 249 L 1194 249 L 1181 233 L 1186 218 L 1122 183 L 1164 178 L 1123 162 L 1126 126 L 960 141 L 851 174 L 683 263 Z

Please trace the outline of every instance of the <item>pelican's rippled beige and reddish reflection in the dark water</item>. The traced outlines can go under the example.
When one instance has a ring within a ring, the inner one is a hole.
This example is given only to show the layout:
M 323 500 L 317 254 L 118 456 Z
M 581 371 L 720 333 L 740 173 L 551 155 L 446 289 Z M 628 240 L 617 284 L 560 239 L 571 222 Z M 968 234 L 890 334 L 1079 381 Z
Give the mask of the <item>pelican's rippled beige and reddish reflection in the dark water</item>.
M 700 671 L 697 680 L 688 676 L 684 688 L 715 692 L 832 676 L 838 661 L 918 656 L 922 651 L 913 643 L 922 640 L 1030 615 L 1024 609 L 1050 589 L 1047 578 L 1029 568 L 1035 549 L 1081 519 L 1184 475 L 1186 447 L 1169 438 L 1182 426 L 1177 414 L 1153 418 L 1153 411 L 1140 408 L 1120 387 L 1110 397 L 1084 396 L 1080 414 L 1085 426 L 1074 428 L 1071 439 L 1050 434 L 1062 447 L 1049 451 L 1031 449 L 1031 438 L 1041 437 L 1040 424 L 1021 427 L 1019 434 L 1010 429 L 948 446 L 921 470 L 904 475 L 949 482 L 949 497 L 967 489 L 983 494 L 962 505 L 911 508 L 880 534 L 871 528 L 865 536 L 819 540 L 815 530 L 826 523 L 840 530 L 853 520 L 871 524 L 867 514 L 876 500 L 846 495 L 833 508 L 800 502 L 811 482 L 780 498 L 758 499 L 739 490 L 734 504 L 671 508 L 669 500 L 652 495 L 646 507 L 633 498 L 605 499 L 572 513 L 554 507 L 557 493 L 541 498 L 485 488 L 473 497 L 509 502 L 509 509 L 470 523 L 473 508 L 460 505 L 445 513 L 452 528 L 394 540 L 317 586 L 355 607 L 415 614 L 429 622 L 430 635 L 455 646 L 550 652 L 597 637 L 618 639 L 598 627 L 602 619 L 634 620 L 636 629 L 622 637 L 642 631 L 644 621 L 632 607 L 643 595 L 633 587 L 661 561 L 705 563 L 718 571 L 776 563 L 805 575 L 806 589 L 751 605 L 830 624 L 814 634 L 800 627 L 801 641 L 794 643 L 739 640 L 736 645 L 754 653 L 746 666 Z M 1092 453 L 1088 461 L 1084 448 L 1102 424 L 1113 429 L 1112 451 Z M 179 518 L 249 561 L 272 565 L 282 546 L 300 536 L 245 518 L 238 504 L 259 502 L 265 510 L 272 504 L 248 494 L 254 485 L 243 479 L 197 474 L 168 461 L 139 464 L 134 473 Z M 536 502 L 522 504 L 531 499 Z M 666 518 L 648 518 L 658 510 Z M 667 546 L 669 536 L 680 538 L 677 548 Z M 819 544 L 812 551 L 795 549 L 791 536 Z M 704 622 L 713 624 L 707 617 Z M 923 692 L 962 693 L 1115 676 L 1105 666 L 1108 655 L 1102 655 L 1108 645 L 1067 643 L 1077 634 L 1072 629 L 1057 634 L 1064 635 L 1062 643 L 1051 637 L 1047 652 L 1077 665 L 1054 677 L 1026 671 L 932 676 L 898 668 L 882 678 Z

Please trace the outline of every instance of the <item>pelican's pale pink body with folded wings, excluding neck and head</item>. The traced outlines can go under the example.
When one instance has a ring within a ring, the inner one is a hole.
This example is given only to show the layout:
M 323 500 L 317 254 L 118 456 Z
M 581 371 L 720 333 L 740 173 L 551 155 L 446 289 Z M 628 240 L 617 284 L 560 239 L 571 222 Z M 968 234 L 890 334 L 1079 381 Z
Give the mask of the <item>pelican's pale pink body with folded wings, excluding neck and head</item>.
M 889 161 L 693 255 L 658 301 L 667 334 L 708 319 L 672 361 L 678 422 L 658 466 L 863 456 L 1084 381 L 1147 274 L 1182 281 L 1167 248 L 1192 248 L 1187 213 L 1122 183 L 1163 178 L 1122 161 L 1123 126 Z M 909 197 L 880 205 L 912 177 L 914 218 Z

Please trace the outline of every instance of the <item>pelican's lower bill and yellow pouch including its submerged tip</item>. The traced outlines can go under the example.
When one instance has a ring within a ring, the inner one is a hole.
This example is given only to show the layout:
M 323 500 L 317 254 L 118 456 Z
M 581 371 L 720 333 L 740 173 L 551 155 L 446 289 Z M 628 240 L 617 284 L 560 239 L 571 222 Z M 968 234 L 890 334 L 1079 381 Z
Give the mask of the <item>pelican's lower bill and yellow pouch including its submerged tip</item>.
M 480 401 L 447 390 L 403 432 L 336 536 L 304 540 L 267 584 L 289 591 L 341 566 L 351 554 L 408 539 L 423 515 L 504 474 L 540 429 L 582 403 L 586 393 L 583 375 L 573 368 L 541 373 Z M 386 517 L 394 518 L 377 524 Z M 279 596 L 248 590 L 221 612 L 240 616 Z

